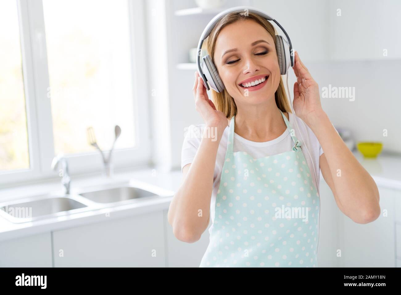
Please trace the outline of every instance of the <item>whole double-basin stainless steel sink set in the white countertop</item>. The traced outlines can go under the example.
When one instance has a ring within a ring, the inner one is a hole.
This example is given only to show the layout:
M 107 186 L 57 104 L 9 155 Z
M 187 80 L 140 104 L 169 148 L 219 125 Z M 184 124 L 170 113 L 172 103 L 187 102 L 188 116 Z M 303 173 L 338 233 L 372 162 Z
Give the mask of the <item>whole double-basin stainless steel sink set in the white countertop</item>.
M 172 195 L 172 191 L 148 183 L 127 181 L 3 202 L 0 216 L 13 223 L 32 222 Z

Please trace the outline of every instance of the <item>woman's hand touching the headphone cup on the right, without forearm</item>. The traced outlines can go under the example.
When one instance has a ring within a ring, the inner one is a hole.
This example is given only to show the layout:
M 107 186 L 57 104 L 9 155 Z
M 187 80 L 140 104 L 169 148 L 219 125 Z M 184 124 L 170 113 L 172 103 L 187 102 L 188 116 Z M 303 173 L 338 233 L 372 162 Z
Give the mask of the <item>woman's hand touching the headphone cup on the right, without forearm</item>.
M 299 118 L 308 124 L 311 116 L 323 112 L 320 104 L 319 86 L 300 60 L 298 52 L 295 52 L 294 67 L 292 69 L 294 69 L 297 77 L 297 81 L 294 83 L 294 111 Z

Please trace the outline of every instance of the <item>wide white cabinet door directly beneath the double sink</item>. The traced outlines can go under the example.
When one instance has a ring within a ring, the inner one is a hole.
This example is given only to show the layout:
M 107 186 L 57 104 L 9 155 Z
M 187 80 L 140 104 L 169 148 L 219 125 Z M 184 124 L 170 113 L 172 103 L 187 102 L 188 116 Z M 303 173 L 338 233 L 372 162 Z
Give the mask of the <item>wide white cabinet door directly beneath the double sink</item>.
M 165 266 L 162 211 L 107 218 L 53 232 L 55 267 Z

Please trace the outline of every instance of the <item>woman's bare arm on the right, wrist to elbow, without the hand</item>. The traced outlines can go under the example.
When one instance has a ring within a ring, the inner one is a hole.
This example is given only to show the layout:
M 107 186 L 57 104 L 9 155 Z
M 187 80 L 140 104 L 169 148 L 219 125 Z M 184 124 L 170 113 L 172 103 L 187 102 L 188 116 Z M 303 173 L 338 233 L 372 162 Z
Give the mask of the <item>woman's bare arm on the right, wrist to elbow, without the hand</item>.
M 320 169 L 338 208 L 356 223 L 376 220 L 380 206 L 375 181 L 356 160 L 325 113 L 316 116 L 314 121 L 311 129 L 324 150 L 320 156 Z

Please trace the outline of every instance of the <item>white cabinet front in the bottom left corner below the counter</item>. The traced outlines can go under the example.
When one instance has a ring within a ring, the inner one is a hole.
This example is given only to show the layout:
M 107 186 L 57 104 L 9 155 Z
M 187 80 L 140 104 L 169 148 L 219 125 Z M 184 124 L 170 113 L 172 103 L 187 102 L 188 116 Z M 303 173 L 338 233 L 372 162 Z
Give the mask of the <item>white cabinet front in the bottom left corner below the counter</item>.
M 0 267 L 52 267 L 51 233 L 0 242 Z

